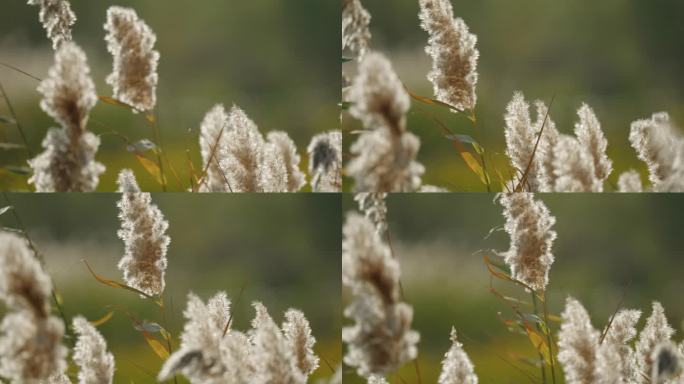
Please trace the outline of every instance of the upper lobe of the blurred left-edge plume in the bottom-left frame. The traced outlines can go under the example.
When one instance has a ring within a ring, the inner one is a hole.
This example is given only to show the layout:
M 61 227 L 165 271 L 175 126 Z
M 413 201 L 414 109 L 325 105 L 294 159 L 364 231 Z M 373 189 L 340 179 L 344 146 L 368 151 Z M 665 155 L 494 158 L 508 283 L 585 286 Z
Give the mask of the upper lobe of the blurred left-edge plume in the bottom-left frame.
M 44 318 L 49 313 L 51 290 L 50 277 L 26 240 L 0 232 L 0 299 L 11 309 L 27 310 Z

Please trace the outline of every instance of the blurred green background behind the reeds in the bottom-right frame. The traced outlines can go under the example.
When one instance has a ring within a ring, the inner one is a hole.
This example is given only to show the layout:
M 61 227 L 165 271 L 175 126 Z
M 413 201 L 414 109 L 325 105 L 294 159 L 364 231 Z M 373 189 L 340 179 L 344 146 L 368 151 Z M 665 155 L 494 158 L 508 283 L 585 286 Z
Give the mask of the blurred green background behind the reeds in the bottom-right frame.
M 682 340 L 684 307 L 684 241 L 679 195 L 538 195 L 556 217 L 558 232 L 550 271 L 548 304 L 559 315 L 567 296 L 580 300 L 595 328 L 602 329 L 622 301 L 641 309 L 639 329 L 660 301 Z M 355 210 L 346 197 L 344 211 Z M 400 260 L 406 301 L 414 308 L 413 328 L 420 332 L 418 357 L 423 383 L 437 382 L 440 362 L 450 347 L 455 326 L 475 364 L 481 383 L 540 383 L 539 371 L 521 362 L 536 351 L 525 335 L 511 333 L 500 322 L 513 318 L 507 303 L 489 292 L 490 275 L 483 256 L 506 251 L 505 220 L 493 195 L 402 195 L 388 198 L 388 222 Z M 490 230 L 495 229 L 488 236 Z M 529 294 L 500 280 L 501 293 L 530 301 Z M 343 302 L 349 296 L 346 290 Z M 348 320 L 345 320 L 347 322 Z M 559 324 L 552 323 L 554 335 Z M 537 378 L 532 381 L 522 372 Z M 418 383 L 406 364 L 392 383 Z M 362 383 L 346 369 L 345 383 Z

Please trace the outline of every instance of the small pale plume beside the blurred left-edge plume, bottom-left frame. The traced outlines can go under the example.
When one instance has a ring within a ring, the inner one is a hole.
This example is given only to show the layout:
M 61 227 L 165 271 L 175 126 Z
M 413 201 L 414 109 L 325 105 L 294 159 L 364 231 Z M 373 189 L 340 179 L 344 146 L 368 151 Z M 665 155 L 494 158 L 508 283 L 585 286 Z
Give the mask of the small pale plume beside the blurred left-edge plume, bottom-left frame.
M 114 355 L 107 351 L 107 342 L 88 320 L 78 316 L 73 320 L 78 335 L 74 347 L 74 362 L 79 367 L 79 384 L 111 384 L 114 380 Z

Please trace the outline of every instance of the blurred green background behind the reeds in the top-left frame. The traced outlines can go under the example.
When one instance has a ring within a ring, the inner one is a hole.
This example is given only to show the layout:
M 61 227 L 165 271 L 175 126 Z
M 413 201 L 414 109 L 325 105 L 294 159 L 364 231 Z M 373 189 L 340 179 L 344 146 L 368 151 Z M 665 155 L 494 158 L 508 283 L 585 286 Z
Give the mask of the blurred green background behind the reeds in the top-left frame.
M 197 167 L 199 125 L 216 103 L 241 106 L 262 133 L 287 131 L 303 157 L 316 133 L 338 126 L 340 98 L 339 3 L 320 0 L 260 0 L 202 2 L 71 0 L 78 17 L 74 40 L 81 45 L 92 68 L 100 95 L 111 96 L 104 82 L 111 57 L 102 25 L 111 5 L 131 6 L 157 34 L 159 87 L 157 111 L 163 148 L 187 187 L 186 150 Z M 38 7 L 24 0 L 6 1 L 0 15 L 0 61 L 44 77 L 53 62 L 51 43 L 38 22 Z M 34 155 L 48 128 L 55 123 L 43 113 L 35 91 L 37 82 L 0 67 L 0 81 L 26 130 Z M 0 103 L 0 115 L 9 111 Z M 117 131 L 136 141 L 153 139 L 141 115 L 99 103 L 89 129 L 96 134 Z M 22 143 L 14 126 L 0 124 L 0 142 Z M 145 190 L 160 190 L 145 173 L 124 142 L 102 136 L 97 159 L 107 166 L 99 189 L 115 190 L 121 168 L 134 169 Z M 0 153 L 0 164 L 25 166 L 24 150 Z M 25 176 L 3 170 L 0 185 L 28 188 Z M 175 178 L 169 184 L 179 189 Z

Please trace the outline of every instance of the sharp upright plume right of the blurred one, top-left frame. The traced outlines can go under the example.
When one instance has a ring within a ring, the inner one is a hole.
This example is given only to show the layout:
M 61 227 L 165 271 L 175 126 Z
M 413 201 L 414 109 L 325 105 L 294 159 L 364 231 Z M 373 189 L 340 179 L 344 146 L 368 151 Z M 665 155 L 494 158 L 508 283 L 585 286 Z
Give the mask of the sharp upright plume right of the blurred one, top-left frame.
M 157 36 L 132 8 L 109 7 L 104 28 L 107 50 L 114 59 L 107 77 L 114 97 L 135 111 L 153 110 L 157 103 Z

